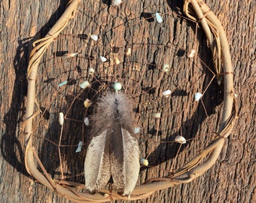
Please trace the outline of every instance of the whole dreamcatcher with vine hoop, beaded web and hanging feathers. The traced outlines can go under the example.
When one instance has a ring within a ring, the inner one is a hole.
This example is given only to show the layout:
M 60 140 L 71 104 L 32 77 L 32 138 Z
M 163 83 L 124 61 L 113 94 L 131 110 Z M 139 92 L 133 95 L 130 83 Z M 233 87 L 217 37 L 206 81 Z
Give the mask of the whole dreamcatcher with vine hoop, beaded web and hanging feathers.
M 187 35 L 190 44 L 172 37 L 166 22 L 177 23 L 177 15 L 171 11 L 139 15 L 133 3 L 122 11 L 120 1 L 87 8 L 79 2 L 69 2 L 30 54 L 24 121 L 29 174 L 82 202 L 147 198 L 205 173 L 218 159 L 237 112 L 229 47 L 217 17 L 203 2 L 184 1 L 184 14 L 206 33 L 212 71 L 197 56 L 195 35 Z M 82 17 L 84 27 L 75 20 Z M 183 67 L 187 61 L 190 68 Z M 214 80 L 224 86 L 220 126 L 209 133 L 211 144 L 180 166 L 178 153 L 195 140 L 185 135 L 195 115 L 211 119 L 203 97 Z M 48 150 L 51 156 L 43 156 Z

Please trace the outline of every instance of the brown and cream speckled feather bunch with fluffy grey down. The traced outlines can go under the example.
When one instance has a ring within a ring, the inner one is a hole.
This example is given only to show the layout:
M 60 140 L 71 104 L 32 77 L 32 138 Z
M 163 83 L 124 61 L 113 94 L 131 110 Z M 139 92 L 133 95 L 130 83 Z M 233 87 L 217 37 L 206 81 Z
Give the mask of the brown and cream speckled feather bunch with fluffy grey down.
M 140 165 L 132 121 L 131 102 L 122 93 L 107 93 L 97 103 L 84 162 L 85 186 L 91 193 L 105 188 L 111 177 L 118 193 L 133 192 Z

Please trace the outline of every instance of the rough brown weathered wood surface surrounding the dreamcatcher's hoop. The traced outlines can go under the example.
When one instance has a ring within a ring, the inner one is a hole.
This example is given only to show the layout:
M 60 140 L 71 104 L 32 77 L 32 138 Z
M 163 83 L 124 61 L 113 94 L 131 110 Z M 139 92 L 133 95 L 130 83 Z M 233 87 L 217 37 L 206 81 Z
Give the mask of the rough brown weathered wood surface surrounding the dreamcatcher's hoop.
M 107 1 L 102 2 L 108 3 Z M 32 41 L 47 33 L 65 10 L 66 3 L 67 1 L 32 2 L 26 0 L 22 2 L 2 1 L 0 3 L 0 164 L 2 165 L 0 168 L 0 191 L 2 202 L 69 202 L 45 186 L 36 183 L 26 173 L 23 164 L 24 143 L 23 137 L 20 135 L 19 125 L 25 110 L 26 66 L 29 52 L 32 49 Z M 254 1 L 249 0 L 242 2 L 207 1 L 206 4 L 221 20 L 224 30 L 227 32 L 234 68 L 235 89 L 239 102 L 239 120 L 236 122 L 232 135 L 224 145 L 218 162 L 206 174 L 191 183 L 155 192 L 150 198 L 138 202 L 256 201 L 256 5 Z M 93 1 L 81 2 L 80 9 L 83 7 L 90 8 L 90 5 L 93 5 Z M 180 1 L 133 1 L 133 3 L 125 1 L 121 5 L 121 10 L 130 11 L 128 7 L 132 7 L 134 13 L 138 10 L 138 12 L 152 11 L 152 13 L 172 11 L 174 14 L 181 14 L 182 10 Z M 90 12 L 90 9 L 86 11 Z M 109 10 L 109 12 L 111 11 L 114 10 Z M 78 22 L 84 23 L 83 20 Z M 157 22 L 152 22 L 152 26 L 155 26 L 154 23 Z M 170 26 L 176 31 L 173 35 L 179 35 L 177 41 L 187 38 L 187 28 L 183 27 L 187 24 L 181 24 L 178 27 L 175 23 L 170 23 Z M 108 25 L 106 25 L 107 28 Z M 111 29 L 111 25 L 109 29 Z M 141 34 L 143 35 L 144 32 L 145 30 L 142 29 Z M 190 28 L 189 32 L 194 32 L 194 30 Z M 159 37 L 157 32 L 151 33 L 151 35 L 156 38 Z M 163 44 L 165 40 L 168 41 L 167 37 L 163 38 Z M 206 49 L 206 38 L 202 31 L 199 31 L 197 40 L 200 41 L 200 44 L 203 44 L 200 45 L 200 49 L 203 49 L 200 57 L 203 58 L 204 62 L 211 65 L 211 55 L 209 50 Z M 215 94 L 216 89 L 212 88 L 209 94 L 211 94 L 211 91 L 213 91 L 212 94 Z M 184 104 L 181 103 L 180 105 Z M 206 105 L 209 107 L 211 103 Z M 212 108 L 212 111 L 218 111 L 220 108 L 221 105 L 218 104 Z M 201 119 L 203 118 L 201 117 Z M 212 125 L 217 126 L 218 117 L 214 119 L 211 120 Z M 202 125 L 205 126 L 200 126 L 200 129 L 207 129 L 206 122 Z M 190 126 L 190 128 L 192 127 Z M 211 139 L 209 138 L 209 140 Z M 206 140 L 203 137 L 197 138 L 199 144 L 204 141 Z M 188 150 L 188 152 L 179 158 L 180 162 L 185 162 L 195 155 L 195 152 L 190 151 L 193 149 L 187 148 L 184 150 Z M 157 153 L 155 155 L 157 156 Z M 155 164 L 160 163 L 162 163 L 162 160 Z M 48 167 L 50 168 L 50 166 Z M 56 166 L 53 166 L 53 168 L 56 168 Z M 152 176 L 152 174 L 147 175 L 148 177 Z

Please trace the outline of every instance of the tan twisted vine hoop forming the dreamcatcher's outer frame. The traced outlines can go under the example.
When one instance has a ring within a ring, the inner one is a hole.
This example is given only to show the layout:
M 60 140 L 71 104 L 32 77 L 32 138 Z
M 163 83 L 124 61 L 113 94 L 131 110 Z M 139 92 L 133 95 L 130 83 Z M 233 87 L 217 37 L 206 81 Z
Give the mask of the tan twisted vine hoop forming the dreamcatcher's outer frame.
M 96 195 L 90 195 L 87 193 L 77 192 L 74 187 L 81 187 L 79 183 L 69 183 L 66 181 L 53 180 L 41 163 L 35 149 L 32 146 L 32 121 L 38 114 L 35 111 L 35 80 L 37 77 L 38 63 L 41 60 L 47 47 L 53 42 L 53 40 L 62 32 L 69 20 L 75 16 L 75 11 L 78 6 L 79 0 L 71 0 L 66 8 L 62 17 L 56 22 L 52 29 L 47 35 L 35 41 L 28 65 L 28 95 L 26 104 L 26 121 L 25 121 L 25 165 L 26 170 L 32 177 L 35 177 L 44 186 L 58 192 L 60 195 L 75 201 L 75 202 L 90 202 L 90 201 L 111 201 L 114 199 L 126 199 L 126 197 L 118 195 L 116 192 L 109 192 L 108 190 L 102 190 L 102 192 L 96 193 Z M 209 47 L 212 50 L 212 56 L 215 64 L 215 71 L 218 77 L 221 74 L 224 78 L 224 107 L 222 112 L 221 125 L 218 129 L 218 138 L 212 141 L 203 152 L 194 157 L 186 165 L 178 169 L 172 176 L 163 178 L 154 178 L 146 181 L 140 186 L 136 186 L 130 195 L 130 200 L 136 200 L 140 198 L 147 198 L 153 192 L 166 189 L 171 186 L 175 186 L 180 183 L 188 183 L 194 180 L 196 177 L 204 174 L 212 165 L 215 164 L 218 159 L 221 149 L 224 145 L 224 139 L 226 139 L 233 129 L 236 120 L 237 105 L 236 99 L 234 98 L 233 90 L 233 68 L 230 59 L 230 51 L 227 43 L 227 38 L 224 29 L 221 26 L 218 18 L 213 14 L 209 7 L 203 1 L 197 0 L 185 0 L 184 1 L 184 13 L 192 20 L 197 20 L 201 23 L 203 30 L 206 32 L 206 37 L 209 41 Z M 222 65 L 222 67 L 221 67 Z M 221 68 L 223 72 L 221 72 Z M 207 158 L 207 159 L 205 159 Z M 38 171 L 36 161 L 40 166 L 43 174 Z M 108 195 L 104 195 L 108 194 Z

